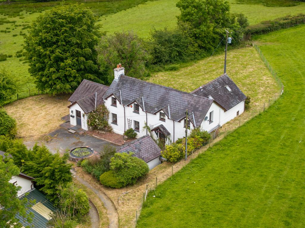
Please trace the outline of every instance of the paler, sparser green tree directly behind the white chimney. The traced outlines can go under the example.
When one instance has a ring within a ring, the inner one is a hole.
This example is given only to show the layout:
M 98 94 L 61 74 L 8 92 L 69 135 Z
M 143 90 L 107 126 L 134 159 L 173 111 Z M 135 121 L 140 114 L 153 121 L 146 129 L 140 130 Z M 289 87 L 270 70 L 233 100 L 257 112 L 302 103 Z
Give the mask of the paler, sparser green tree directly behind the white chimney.
M 96 50 L 100 69 L 105 75 L 108 75 L 108 82 L 112 82 L 113 68 L 116 68 L 118 63 L 124 66 L 125 74 L 130 77 L 147 76 L 148 71 L 145 69 L 145 64 L 149 59 L 149 54 L 146 47 L 145 41 L 133 31 L 117 32 L 102 37 Z

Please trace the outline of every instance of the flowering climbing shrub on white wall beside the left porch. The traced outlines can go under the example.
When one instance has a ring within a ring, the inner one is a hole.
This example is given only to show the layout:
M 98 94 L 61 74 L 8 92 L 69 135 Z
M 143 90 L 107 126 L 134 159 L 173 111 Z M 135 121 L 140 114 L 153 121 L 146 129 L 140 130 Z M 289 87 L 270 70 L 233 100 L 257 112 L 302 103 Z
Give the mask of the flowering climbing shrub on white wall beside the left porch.
M 101 105 L 88 115 L 87 123 L 88 126 L 91 126 L 94 130 L 111 132 L 112 128 L 108 124 L 108 118 L 108 109 L 104 105 Z

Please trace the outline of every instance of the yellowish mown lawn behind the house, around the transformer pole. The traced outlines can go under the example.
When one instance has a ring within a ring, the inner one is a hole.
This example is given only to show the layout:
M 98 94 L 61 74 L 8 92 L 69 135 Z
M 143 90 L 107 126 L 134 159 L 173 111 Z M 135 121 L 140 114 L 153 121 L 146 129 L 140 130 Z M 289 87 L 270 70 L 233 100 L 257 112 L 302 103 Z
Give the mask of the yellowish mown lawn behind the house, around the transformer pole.
M 186 92 L 198 88 L 223 74 L 224 55 L 216 55 L 197 61 L 178 71 L 160 72 L 149 82 L 170 86 Z M 256 106 L 278 92 L 278 86 L 253 47 L 228 51 L 227 74 Z

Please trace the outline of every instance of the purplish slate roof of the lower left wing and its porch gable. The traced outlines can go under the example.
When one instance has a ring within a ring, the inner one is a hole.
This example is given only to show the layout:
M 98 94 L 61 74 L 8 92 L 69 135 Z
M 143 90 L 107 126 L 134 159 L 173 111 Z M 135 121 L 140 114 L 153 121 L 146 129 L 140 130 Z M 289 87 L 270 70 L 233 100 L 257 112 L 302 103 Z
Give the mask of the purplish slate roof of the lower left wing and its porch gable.
M 109 86 L 84 79 L 68 99 L 72 102 L 68 107 L 77 102 L 81 109 L 88 114 L 95 108 L 95 92 L 97 92 L 96 106 L 99 106 L 103 103 L 103 96 L 108 88 Z

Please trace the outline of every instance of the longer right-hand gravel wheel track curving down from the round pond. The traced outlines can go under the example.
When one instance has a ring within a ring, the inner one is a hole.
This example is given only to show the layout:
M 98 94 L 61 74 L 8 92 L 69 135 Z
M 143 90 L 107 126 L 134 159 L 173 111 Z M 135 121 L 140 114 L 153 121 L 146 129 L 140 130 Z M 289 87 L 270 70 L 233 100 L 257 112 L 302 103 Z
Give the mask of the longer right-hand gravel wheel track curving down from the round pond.
M 71 169 L 71 173 L 75 176 L 75 178 L 81 182 L 82 184 L 86 185 L 88 188 L 90 188 L 98 197 L 99 199 L 104 203 L 106 209 L 107 209 L 107 216 L 109 218 L 109 228 L 118 228 L 119 227 L 119 215 L 117 213 L 117 209 L 114 207 L 113 202 L 101 191 L 95 189 L 92 187 L 89 182 L 85 181 L 81 177 L 77 175 L 74 169 Z M 93 227 L 93 224 L 92 224 Z

